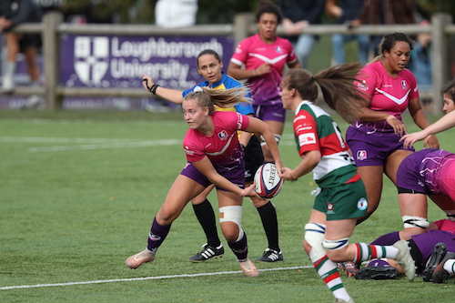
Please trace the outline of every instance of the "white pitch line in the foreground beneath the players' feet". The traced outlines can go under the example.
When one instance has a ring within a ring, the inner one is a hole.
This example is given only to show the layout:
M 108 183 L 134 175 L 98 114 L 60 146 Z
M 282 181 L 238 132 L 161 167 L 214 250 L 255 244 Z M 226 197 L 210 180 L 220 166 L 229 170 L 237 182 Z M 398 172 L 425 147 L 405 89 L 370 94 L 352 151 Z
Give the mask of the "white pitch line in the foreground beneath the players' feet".
M 276 271 L 276 270 L 290 270 L 290 269 L 303 269 L 313 268 L 312 266 L 304 267 L 291 267 L 291 268 L 267 268 L 259 269 L 259 271 Z M 231 275 L 238 274 L 242 271 L 218 271 L 218 272 L 207 272 L 201 274 L 184 274 L 184 275 L 172 275 L 172 276 L 158 276 L 158 277 L 143 277 L 143 278 L 114 278 L 110 280 L 95 280 L 95 281 L 82 281 L 82 282 L 69 282 L 69 283 L 54 283 L 54 284 L 35 284 L 35 285 L 16 285 L 11 287 L 0 288 L 0 290 L 8 289 L 19 289 L 19 288 L 50 288 L 50 287 L 63 287 L 72 285 L 84 285 L 84 284 L 101 284 L 101 283 L 112 283 L 112 282 L 133 282 L 133 281 L 145 281 L 145 280 L 158 280 L 164 278 L 194 278 L 194 277 L 205 277 L 205 276 L 217 276 L 217 275 Z

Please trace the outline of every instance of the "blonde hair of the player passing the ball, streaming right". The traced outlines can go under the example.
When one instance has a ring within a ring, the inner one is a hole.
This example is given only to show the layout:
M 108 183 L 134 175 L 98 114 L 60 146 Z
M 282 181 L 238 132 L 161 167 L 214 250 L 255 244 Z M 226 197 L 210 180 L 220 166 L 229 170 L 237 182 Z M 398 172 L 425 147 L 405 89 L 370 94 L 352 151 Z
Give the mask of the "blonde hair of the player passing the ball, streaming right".
M 252 99 L 247 97 L 249 90 L 247 87 L 239 86 L 229 89 L 209 89 L 199 87 L 183 98 L 183 101 L 195 100 L 197 106 L 208 107 L 209 115 L 215 112 L 215 106 L 227 108 L 238 103 L 252 103 Z

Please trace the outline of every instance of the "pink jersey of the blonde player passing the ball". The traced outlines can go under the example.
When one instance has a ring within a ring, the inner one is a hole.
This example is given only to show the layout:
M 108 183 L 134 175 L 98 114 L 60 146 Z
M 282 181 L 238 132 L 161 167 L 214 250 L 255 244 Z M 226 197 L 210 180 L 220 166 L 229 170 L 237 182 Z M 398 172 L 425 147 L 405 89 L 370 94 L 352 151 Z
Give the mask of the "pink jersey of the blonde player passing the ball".
M 214 166 L 238 163 L 243 157 L 243 151 L 238 143 L 237 131 L 247 129 L 248 116 L 216 111 L 212 119 L 215 125 L 212 136 L 206 136 L 196 129 L 188 129 L 183 140 L 188 162 L 199 161 L 207 156 Z

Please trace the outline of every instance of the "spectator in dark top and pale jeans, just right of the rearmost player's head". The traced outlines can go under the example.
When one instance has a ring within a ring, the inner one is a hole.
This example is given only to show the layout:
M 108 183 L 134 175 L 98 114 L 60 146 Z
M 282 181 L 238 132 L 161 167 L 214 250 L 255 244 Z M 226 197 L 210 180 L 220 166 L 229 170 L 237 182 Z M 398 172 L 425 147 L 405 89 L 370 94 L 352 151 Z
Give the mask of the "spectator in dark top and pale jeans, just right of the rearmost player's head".
M 301 32 L 308 25 L 321 23 L 325 0 L 278 0 L 277 5 L 283 15 L 283 28 L 294 46 L 300 66 L 308 68 L 309 54 L 318 36 Z

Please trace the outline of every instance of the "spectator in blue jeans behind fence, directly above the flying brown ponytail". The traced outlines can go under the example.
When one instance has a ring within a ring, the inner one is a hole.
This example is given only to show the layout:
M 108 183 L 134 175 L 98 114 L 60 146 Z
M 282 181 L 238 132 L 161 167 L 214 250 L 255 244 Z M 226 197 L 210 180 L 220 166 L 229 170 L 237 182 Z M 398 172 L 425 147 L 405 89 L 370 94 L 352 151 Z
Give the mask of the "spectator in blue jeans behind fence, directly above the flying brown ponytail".
M 347 25 L 351 28 L 351 22 L 359 15 L 363 2 L 364 0 L 327 0 L 326 12 L 328 15 L 337 17 L 340 25 Z M 344 45 L 352 40 L 357 40 L 359 43 L 359 62 L 365 65 L 369 61 L 369 35 L 334 34 L 332 35 L 332 47 L 336 64 L 346 63 Z

